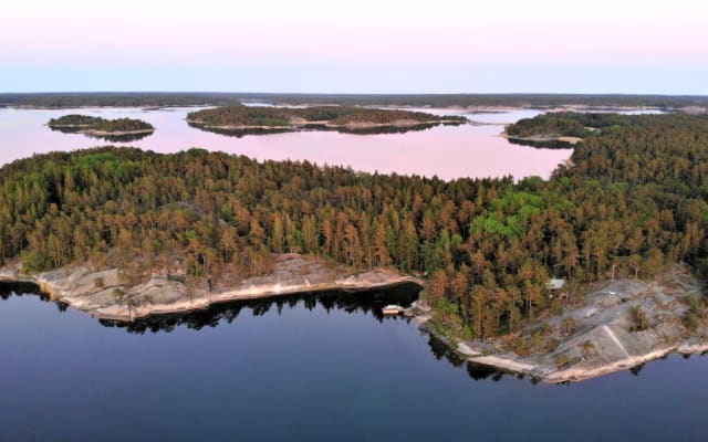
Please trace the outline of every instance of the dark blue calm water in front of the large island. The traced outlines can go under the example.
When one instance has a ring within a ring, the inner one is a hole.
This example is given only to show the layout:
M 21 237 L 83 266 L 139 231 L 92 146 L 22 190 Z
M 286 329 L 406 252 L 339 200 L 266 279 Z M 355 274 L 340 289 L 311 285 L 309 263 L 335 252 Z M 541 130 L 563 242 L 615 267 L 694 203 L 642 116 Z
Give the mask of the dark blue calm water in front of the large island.
M 374 315 L 410 293 L 232 304 L 126 329 L 9 292 L 2 441 L 708 438 L 704 358 L 534 385 L 455 366 L 413 323 Z

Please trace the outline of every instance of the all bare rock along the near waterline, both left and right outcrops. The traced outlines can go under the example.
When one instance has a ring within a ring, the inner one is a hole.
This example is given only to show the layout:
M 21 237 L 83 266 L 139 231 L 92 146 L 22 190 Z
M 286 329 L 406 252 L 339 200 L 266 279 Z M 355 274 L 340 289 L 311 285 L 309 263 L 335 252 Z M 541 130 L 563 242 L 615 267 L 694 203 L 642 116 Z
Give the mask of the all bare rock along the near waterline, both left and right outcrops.
M 24 275 L 20 264 L 0 269 L 0 281 L 29 282 L 54 301 L 65 303 L 100 319 L 133 322 L 154 315 L 183 314 L 206 309 L 212 304 L 320 291 L 371 291 L 424 281 L 392 269 L 355 272 L 326 264 L 311 256 L 277 255 L 272 274 L 239 282 L 222 281 L 209 290 L 206 284 L 188 284 L 184 275 L 167 271 L 128 285 L 117 269 L 96 270 L 88 265 L 62 267 Z M 583 301 L 565 307 L 558 316 L 539 318 L 517 335 L 519 339 L 541 336 L 538 348 L 519 352 L 509 337 L 486 341 L 457 340 L 441 336 L 425 301 L 414 303 L 406 316 L 438 335 L 470 364 L 531 376 L 551 383 L 575 382 L 626 370 L 670 352 L 684 355 L 708 351 L 708 327 L 685 326 L 690 303 L 701 302 L 702 285 L 685 271 L 671 271 L 660 281 L 616 280 L 593 287 Z M 635 329 L 633 312 L 646 314 L 646 328 Z

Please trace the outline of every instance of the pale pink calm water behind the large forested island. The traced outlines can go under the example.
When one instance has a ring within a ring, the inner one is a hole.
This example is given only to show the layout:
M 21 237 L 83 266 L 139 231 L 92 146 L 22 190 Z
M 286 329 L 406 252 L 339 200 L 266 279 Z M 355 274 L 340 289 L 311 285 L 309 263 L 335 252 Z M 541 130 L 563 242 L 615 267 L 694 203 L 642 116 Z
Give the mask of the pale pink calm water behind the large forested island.
M 113 143 L 159 152 L 202 147 L 257 159 L 293 159 L 320 165 L 351 166 L 382 173 L 417 173 L 440 178 L 527 176 L 548 177 L 571 155 L 570 149 L 535 149 L 508 143 L 499 134 L 503 126 L 438 126 L 423 131 L 385 135 L 352 135 L 335 131 L 299 131 L 251 135 L 242 138 L 190 128 L 184 120 L 188 108 L 145 110 L 139 108 L 11 109 L 0 108 L 0 164 L 34 152 L 73 150 L 108 144 L 82 134 L 62 134 L 44 126 L 50 118 L 81 113 L 104 118 L 129 117 L 155 126 L 155 134 L 137 141 Z M 461 110 L 424 109 L 436 114 Z M 513 123 L 537 115 L 535 110 L 475 114 L 488 123 Z

